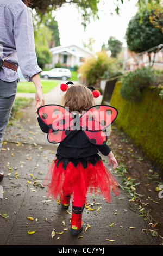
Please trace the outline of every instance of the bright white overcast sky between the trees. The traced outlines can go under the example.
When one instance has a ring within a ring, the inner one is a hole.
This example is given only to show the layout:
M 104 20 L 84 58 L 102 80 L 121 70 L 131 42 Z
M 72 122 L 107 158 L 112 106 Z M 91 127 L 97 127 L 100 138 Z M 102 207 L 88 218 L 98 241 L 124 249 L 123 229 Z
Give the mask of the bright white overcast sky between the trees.
M 123 46 L 126 46 L 124 36 L 129 20 L 137 12 L 135 6 L 137 0 L 124 0 L 125 3 L 120 4 L 120 16 L 117 16 L 114 12 L 115 5 L 113 2 L 116 2 L 116 0 L 101 0 L 98 4 L 99 20 L 94 21 L 91 18 L 90 25 L 86 27 L 85 31 L 81 15 L 75 5 L 65 4 L 55 11 L 54 15 L 55 20 L 58 21 L 61 45 L 76 44 L 83 47 L 82 41 L 88 43 L 89 38 L 93 38 L 96 40 L 93 44 L 93 50 L 97 52 L 101 50 L 103 42 L 106 44 L 110 36 L 115 36 L 123 42 Z M 111 13 L 114 14 L 111 15 Z

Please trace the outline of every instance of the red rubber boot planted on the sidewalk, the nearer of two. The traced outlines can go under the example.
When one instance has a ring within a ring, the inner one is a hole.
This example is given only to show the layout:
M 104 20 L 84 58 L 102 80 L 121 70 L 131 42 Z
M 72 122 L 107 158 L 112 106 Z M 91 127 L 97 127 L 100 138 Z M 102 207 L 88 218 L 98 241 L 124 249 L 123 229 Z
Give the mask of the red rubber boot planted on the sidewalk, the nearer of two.
M 83 223 L 82 223 L 82 212 L 84 209 L 83 205 L 80 210 L 74 210 L 74 207 L 72 206 L 72 217 L 71 217 L 71 234 L 72 235 L 78 235 L 80 231 L 83 229 Z

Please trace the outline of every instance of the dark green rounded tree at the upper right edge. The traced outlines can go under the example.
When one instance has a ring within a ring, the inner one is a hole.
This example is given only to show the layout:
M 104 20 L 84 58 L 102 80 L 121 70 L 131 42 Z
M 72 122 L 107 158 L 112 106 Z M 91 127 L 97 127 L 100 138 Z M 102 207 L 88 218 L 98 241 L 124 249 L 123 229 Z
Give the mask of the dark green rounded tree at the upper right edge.
M 143 10 L 137 13 L 130 21 L 126 30 L 128 48 L 134 52 L 143 52 L 163 41 L 163 33 L 160 28 L 150 22 L 150 15 L 154 10 Z M 161 22 L 161 21 L 159 21 Z M 160 24 L 162 27 L 162 24 Z

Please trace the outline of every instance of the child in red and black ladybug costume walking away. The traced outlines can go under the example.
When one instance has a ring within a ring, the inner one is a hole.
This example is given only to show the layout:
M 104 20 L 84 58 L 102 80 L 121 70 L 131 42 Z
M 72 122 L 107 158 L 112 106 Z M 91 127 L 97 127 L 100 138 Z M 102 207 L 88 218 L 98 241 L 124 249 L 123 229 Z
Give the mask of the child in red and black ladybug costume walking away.
M 99 92 L 92 87 L 68 82 L 60 88 L 66 91 L 63 106 L 45 105 L 37 111 L 40 128 L 48 133 L 48 141 L 60 143 L 43 185 L 48 187 L 48 196 L 54 199 L 60 196 L 64 209 L 68 209 L 72 197 L 71 234 L 78 235 L 83 229 L 87 193 L 101 192 L 108 203 L 110 188 L 116 196 L 119 193 L 118 183 L 98 155 L 100 151 L 108 156 L 113 169 L 117 167 L 117 160 L 106 144 L 105 130 L 117 117 L 117 109 L 93 106 Z

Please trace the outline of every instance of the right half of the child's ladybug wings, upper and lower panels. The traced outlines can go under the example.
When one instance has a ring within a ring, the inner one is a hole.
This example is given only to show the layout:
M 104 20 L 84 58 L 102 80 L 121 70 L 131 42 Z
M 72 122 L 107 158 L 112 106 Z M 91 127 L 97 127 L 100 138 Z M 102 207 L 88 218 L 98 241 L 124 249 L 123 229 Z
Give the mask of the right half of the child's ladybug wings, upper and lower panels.
M 117 118 L 116 108 L 96 105 L 89 108 L 80 118 L 80 126 L 91 143 L 103 145 L 107 140 L 106 128 Z

